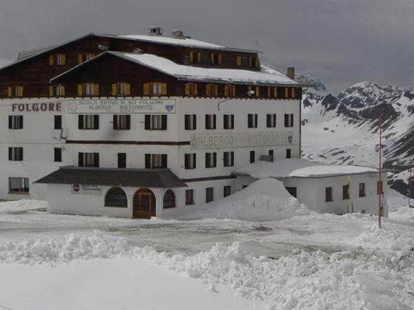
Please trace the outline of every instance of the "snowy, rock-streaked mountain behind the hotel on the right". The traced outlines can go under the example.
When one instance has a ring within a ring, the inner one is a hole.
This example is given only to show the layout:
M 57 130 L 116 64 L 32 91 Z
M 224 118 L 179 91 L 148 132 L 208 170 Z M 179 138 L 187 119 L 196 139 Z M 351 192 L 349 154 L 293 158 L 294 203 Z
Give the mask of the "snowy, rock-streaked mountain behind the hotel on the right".
M 302 155 L 341 165 L 378 166 L 382 114 L 384 167 L 404 171 L 414 164 L 414 90 L 372 82 L 357 83 L 333 95 L 312 74 L 298 76 L 316 87 L 304 94 Z M 394 173 L 389 185 L 408 191 L 408 174 Z

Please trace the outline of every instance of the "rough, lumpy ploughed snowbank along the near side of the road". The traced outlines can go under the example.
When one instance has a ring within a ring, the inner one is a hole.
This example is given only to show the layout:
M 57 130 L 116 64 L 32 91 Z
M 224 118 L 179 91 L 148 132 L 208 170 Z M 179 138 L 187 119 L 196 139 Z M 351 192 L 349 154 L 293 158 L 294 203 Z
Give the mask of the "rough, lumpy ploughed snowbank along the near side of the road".
M 216 244 L 209 251 L 191 256 L 170 255 L 150 247 L 130 247 L 123 238 L 96 232 L 92 236 L 68 235 L 61 240 L 2 245 L 0 262 L 128 256 L 133 259 L 123 261 L 125 270 L 133 270 L 135 262 L 142 260 L 141 264 L 148 264 L 150 269 L 153 265 L 160 265 L 197 279 L 212 292 L 220 293 L 224 288 L 248 300 L 265 300 L 269 304 L 268 309 L 385 310 L 409 309 L 408 305 L 414 304 L 411 294 L 414 285 L 411 276 L 414 272 L 413 251 L 401 253 L 384 254 L 359 247 L 332 255 L 321 251 L 312 254 L 301 251 L 271 260 L 265 256 L 247 255 L 242 245 L 235 242 L 232 245 Z M 27 259 L 21 260 L 23 256 Z M 104 274 L 97 273 L 90 281 L 99 282 Z M 135 285 L 119 282 L 114 293 L 129 296 L 131 289 L 143 285 L 140 280 L 135 279 Z M 93 283 L 90 286 L 95 287 Z M 70 295 L 70 289 L 59 292 L 62 293 Z

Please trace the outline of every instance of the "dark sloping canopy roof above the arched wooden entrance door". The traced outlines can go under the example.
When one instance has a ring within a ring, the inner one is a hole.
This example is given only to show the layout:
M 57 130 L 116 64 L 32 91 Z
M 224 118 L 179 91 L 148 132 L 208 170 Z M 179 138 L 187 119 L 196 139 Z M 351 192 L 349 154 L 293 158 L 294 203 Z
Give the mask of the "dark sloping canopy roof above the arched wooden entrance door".
M 186 187 L 170 169 L 117 169 L 97 167 L 59 167 L 34 183 L 83 184 L 124 187 Z

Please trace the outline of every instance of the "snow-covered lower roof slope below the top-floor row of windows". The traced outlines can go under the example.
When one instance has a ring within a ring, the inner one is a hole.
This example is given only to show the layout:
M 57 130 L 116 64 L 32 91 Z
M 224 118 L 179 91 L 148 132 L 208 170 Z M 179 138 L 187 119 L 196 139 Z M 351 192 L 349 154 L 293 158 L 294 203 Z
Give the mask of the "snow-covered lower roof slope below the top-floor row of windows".
M 241 69 L 199 68 L 190 65 L 179 65 L 169 59 L 153 54 L 108 53 L 174 76 L 179 80 L 212 81 L 218 83 L 297 85 L 295 81 L 276 70 L 273 70 L 272 73 L 268 73 L 264 71 L 257 72 Z

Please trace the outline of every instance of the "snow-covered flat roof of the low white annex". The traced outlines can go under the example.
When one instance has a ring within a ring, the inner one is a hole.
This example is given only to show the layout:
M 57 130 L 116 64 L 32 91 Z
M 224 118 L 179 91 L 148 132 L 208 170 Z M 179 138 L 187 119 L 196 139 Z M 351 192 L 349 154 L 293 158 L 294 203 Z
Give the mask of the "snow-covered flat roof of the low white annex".
M 251 163 L 237 169 L 235 174 L 248 175 L 253 178 L 322 178 L 377 172 L 377 169 L 370 167 L 327 165 L 302 158 L 288 158 L 273 163 L 267 161 Z

